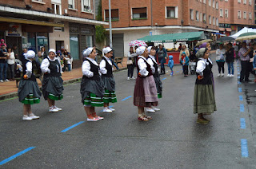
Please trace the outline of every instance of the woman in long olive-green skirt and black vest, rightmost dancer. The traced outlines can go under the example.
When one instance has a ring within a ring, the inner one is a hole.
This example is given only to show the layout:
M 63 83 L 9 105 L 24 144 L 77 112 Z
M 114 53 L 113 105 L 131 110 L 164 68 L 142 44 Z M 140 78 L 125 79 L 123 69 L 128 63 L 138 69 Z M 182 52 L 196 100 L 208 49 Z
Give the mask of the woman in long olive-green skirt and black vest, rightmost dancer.
M 209 50 L 201 48 L 196 53 L 198 57 L 198 64 L 196 73 L 198 75 L 194 86 L 194 113 L 198 114 L 198 124 L 208 124 L 203 114 L 211 114 L 217 110 L 214 96 L 213 79 L 212 79 L 212 65 L 208 61 Z

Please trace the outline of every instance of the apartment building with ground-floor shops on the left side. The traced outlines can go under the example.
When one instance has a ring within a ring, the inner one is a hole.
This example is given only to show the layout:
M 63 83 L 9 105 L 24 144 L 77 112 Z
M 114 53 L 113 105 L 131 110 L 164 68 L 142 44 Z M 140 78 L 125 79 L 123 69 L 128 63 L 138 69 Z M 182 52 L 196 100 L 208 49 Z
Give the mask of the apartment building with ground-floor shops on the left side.
M 95 42 L 94 0 L 0 0 L 0 37 L 8 46 L 67 49 L 81 66 L 82 50 Z

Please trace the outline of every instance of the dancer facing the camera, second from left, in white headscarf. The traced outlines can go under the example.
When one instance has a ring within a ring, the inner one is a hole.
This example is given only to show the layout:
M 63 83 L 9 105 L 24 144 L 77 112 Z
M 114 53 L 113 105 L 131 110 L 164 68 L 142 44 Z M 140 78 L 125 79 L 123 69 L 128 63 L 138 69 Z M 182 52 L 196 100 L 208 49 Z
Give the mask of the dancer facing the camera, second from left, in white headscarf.
M 62 108 L 57 108 L 55 100 L 62 100 L 63 95 L 63 80 L 62 80 L 62 66 L 54 49 L 50 49 L 48 57 L 42 60 L 42 95 L 49 104 L 49 112 L 58 112 Z

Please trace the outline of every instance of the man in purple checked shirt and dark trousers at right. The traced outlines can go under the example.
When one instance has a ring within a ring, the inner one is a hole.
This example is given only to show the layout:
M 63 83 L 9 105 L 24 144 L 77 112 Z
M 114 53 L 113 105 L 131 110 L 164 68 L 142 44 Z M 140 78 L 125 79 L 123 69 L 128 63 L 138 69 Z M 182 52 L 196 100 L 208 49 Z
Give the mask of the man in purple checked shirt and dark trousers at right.
M 242 42 L 242 48 L 239 50 L 238 55 L 241 61 L 241 73 L 240 73 L 240 82 L 243 82 L 244 78 L 245 81 L 249 80 L 250 75 L 250 49 L 247 48 L 246 42 Z

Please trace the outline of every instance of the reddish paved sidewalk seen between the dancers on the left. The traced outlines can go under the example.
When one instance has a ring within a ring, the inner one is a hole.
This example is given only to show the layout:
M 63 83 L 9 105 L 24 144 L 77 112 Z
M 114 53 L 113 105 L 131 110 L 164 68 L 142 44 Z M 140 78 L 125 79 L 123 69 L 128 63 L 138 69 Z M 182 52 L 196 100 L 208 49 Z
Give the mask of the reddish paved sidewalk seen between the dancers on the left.
M 122 67 L 123 65 L 123 67 Z M 119 70 L 126 69 L 126 57 L 122 61 L 122 65 L 118 65 Z M 114 72 L 117 70 L 114 67 Z M 72 69 L 70 72 L 62 73 L 62 79 L 64 81 L 63 85 L 74 83 L 82 79 L 82 68 Z M 42 86 L 41 81 L 38 81 L 39 87 Z M 10 99 L 14 96 L 18 96 L 18 88 L 16 88 L 16 81 L 8 81 L 0 83 L 0 100 Z

